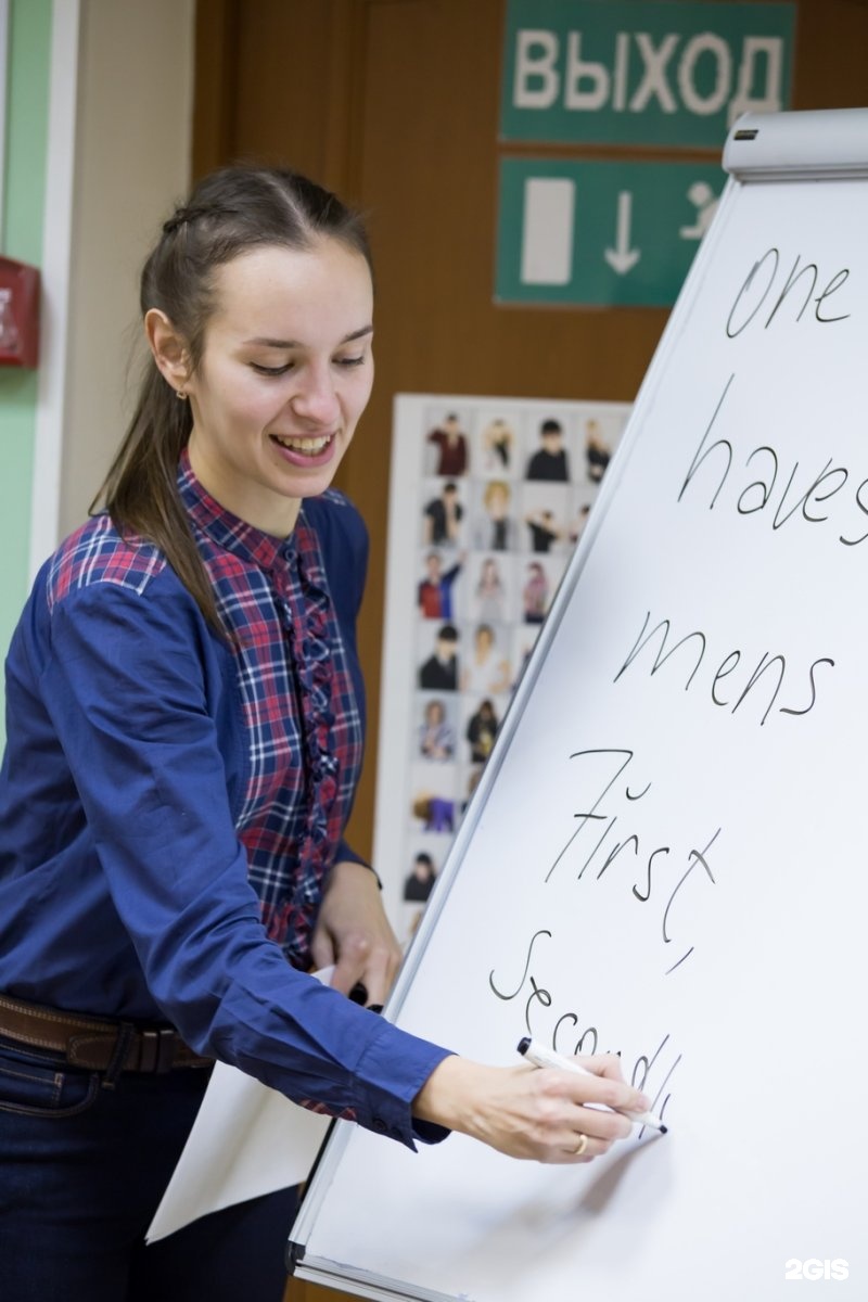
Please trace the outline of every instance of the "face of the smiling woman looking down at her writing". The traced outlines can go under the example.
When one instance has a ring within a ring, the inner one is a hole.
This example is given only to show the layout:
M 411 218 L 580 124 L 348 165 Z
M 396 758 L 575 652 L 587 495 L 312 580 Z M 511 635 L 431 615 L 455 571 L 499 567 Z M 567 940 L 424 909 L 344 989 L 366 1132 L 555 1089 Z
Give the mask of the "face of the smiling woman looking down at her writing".
M 228 510 L 276 536 L 328 488 L 373 383 L 371 273 L 336 240 L 268 245 L 217 268 L 186 384 L 190 462 Z

